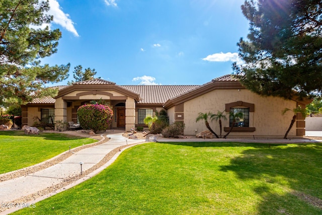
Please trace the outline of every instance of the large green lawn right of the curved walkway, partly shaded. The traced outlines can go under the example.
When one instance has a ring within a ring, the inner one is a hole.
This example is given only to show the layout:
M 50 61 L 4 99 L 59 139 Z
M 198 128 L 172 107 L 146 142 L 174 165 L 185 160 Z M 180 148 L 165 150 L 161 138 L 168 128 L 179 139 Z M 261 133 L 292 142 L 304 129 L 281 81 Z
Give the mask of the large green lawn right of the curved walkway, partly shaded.
M 315 143 L 148 143 L 17 213 L 322 214 L 321 158 Z

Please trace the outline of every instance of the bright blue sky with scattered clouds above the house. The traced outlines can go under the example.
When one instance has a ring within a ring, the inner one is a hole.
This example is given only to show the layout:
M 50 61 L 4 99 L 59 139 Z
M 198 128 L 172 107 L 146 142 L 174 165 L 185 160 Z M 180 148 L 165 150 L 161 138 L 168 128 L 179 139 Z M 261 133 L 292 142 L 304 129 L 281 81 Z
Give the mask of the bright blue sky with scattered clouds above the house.
M 244 0 L 49 0 L 58 51 L 42 63 L 95 68 L 117 85 L 202 85 L 232 73 Z

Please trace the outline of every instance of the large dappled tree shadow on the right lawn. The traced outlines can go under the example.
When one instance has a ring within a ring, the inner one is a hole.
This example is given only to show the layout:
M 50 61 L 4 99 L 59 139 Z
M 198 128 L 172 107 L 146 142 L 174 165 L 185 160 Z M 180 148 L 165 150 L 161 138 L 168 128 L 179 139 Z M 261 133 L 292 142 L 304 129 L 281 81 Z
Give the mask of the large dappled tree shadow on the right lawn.
M 220 168 L 224 172 L 233 171 L 240 180 L 261 183 L 253 189 L 262 198 L 258 205 L 259 214 L 272 211 L 272 208 L 276 214 L 298 214 L 298 211 L 307 210 L 310 212 L 306 214 L 320 214 L 321 157 L 321 144 L 274 145 L 245 150 L 240 156 L 232 158 L 230 165 Z M 276 192 L 276 187 L 283 191 Z M 314 199 L 315 203 L 310 199 Z

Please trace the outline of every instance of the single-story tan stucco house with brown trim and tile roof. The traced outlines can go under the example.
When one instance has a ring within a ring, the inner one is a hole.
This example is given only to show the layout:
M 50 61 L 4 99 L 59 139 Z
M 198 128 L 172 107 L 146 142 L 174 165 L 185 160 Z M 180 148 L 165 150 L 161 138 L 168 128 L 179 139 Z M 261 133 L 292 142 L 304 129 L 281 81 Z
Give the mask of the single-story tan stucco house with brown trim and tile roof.
M 225 75 L 204 85 L 119 86 L 113 82 L 95 79 L 76 82 L 71 86 L 58 86 L 55 98 L 34 99 L 22 106 L 23 125 L 32 125 L 33 118 L 54 117 L 54 120 L 77 122 L 77 108 L 91 100 L 104 99 L 114 111 L 111 129 L 144 126 L 143 119 L 155 111 L 165 109 L 170 123 L 184 121 L 185 135 L 195 135 L 206 130 L 205 123 L 196 122 L 199 112 L 225 111 L 224 131 L 232 120 L 229 112 L 244 113 L 233 127 L 230 136 L 284 136 L 293 113 L 282 114 L 285 108 L 305 107 L 310 100 L 285 100 L 279 97 L 262 97 L 245 87 L 232 75 Z M 218 122 L 210 123 L 219 133 Z M 305 135 L 305 118 L 297 115 L 289 136 Z

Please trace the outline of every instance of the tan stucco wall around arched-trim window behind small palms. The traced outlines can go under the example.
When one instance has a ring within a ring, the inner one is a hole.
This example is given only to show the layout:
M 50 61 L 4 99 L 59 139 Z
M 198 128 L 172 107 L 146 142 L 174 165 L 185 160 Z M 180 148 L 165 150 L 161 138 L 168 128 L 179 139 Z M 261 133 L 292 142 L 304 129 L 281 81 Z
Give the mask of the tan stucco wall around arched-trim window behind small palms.
M 254 132 L 231 132 L 229 135 L 243 136 L 283 136 L 292 120 L 293 112 L 289 111 L 282 115 L 285 108 L 296 108 L 296 102 L 292 100 L 284 100 L 278 97 L 261 97 L 248 90 L 237 89 L 233 90 L 213 90 L 209 93 L 201 95 L 197 98 L 184 103 L 184 122 L 186 128 L 185 135 L 195 135 L 196 131 L 207 130 L 204 121 L 196 122 L 199 112 L 217 113 L 224 111 L 225 104 L 243 101 L 255 104 L 255 111 L 250 112 L 250 127 L 255 127 Z M 173 108 L 168 110 L 169 116 L 172 116 Z M 223 127 L 229 127 L 229 113 L 227 120 L 223 120 Z M 171 121 L 173 118 L 171 118 Z M 217 121 L 209 122 L 211 128 L 219 134 L 219 123 Z M 225 133 L 224 131 L 222 132 Z M 296 135 L 296 126 L 294 125 L 288 134 L 289 136 Z

